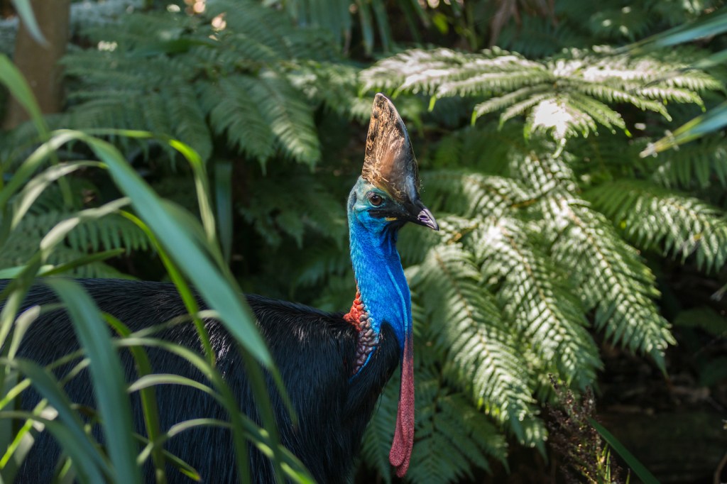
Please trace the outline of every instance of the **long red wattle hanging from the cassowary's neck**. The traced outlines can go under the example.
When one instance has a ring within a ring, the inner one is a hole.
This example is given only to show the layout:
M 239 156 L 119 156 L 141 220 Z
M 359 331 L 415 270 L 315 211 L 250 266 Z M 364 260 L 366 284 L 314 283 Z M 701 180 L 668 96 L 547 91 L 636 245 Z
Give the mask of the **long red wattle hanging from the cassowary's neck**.
M 414 345 L 411 340 L 411 336 L 407 335 L 404 341 L 399 409 L 396 413 L 394 441 L 389 452 L 389 461 L 396 467 L 398 477 L 403 477 L 409 469 L 411 448 L 414 446 Z

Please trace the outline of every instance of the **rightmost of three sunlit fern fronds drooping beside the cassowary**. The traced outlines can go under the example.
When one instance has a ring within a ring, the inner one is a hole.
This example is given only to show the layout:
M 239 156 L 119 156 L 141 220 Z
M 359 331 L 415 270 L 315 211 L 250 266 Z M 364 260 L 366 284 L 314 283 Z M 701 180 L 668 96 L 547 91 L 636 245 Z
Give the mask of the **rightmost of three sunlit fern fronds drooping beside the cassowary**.
M 534 209 L 547 223 L 542 236 L 554 262 L 569 274 L 586 311 L 595 309 L 595 327 L 614 343 L 646 352 L 663 368 L 663 352 L 674 342 L 659 314 L 654 274 L 613 225 L 577 194 L 573 170 L 562 158 L 530 156 L 518 166 L 526 182 L 543 187 Z

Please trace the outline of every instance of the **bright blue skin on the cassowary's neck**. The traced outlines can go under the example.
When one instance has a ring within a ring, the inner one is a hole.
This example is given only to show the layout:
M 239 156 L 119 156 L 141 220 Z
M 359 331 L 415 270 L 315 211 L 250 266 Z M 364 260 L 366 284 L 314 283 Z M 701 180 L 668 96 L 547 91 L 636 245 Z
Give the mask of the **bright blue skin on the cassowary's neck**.
M 358 177 L 348 198 L 351 263 L 371 328 L 380 334 L 382 324 L 391 326 L 401 355 L 405 339 L 411 337 L 411 294 L 396 251 L 401 222 L 372 217 L 369 210 L 375 207 L 369 201 L 371 192 L 387 203 L 396 203 L 384 190 Z

